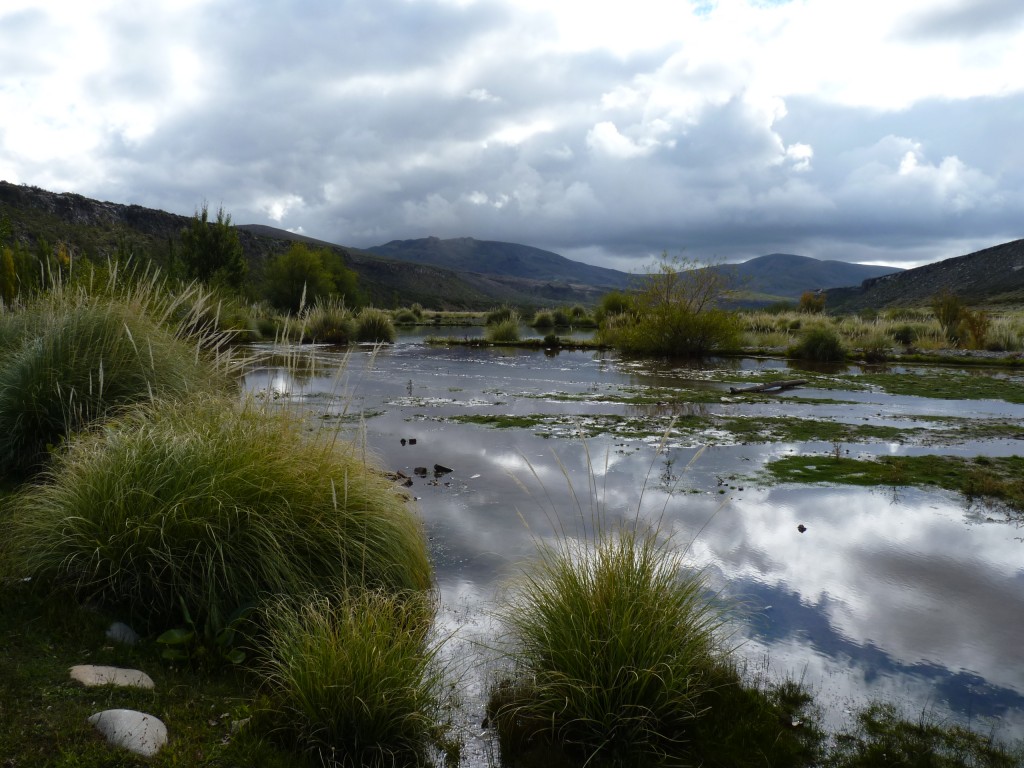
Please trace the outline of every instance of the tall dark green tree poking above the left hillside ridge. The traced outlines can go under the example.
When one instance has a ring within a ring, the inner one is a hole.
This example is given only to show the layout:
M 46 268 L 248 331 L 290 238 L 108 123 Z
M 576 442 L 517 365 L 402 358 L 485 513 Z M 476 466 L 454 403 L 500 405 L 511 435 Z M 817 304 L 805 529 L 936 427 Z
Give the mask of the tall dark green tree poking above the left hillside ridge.
M 211 222 L 204 202 L 181 232 L 181 262 L 189 279 L 241 288 L 247 265 L 230 214 L 219 208 L 217 220 Z

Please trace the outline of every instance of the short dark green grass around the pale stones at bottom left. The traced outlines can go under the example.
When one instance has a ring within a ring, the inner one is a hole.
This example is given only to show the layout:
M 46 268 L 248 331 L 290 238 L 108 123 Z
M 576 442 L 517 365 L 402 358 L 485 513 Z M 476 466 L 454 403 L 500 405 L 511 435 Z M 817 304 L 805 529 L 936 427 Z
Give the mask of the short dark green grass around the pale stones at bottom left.
M 71 595 L 40 596 L 0 582 L 0 755 L 3 765 L 56 768 L 304 768 L 308 763 L 265 737 L 248 720 L 256 692 L 236 669 L 170 666 L 152 641 L 135 647 L 106 640 L 112 617 L 80 608 Z M 79 664 L 139 669 L 156 688 L 86 688 L 73 682 Z M 159 717 L 170 739 L 143 760 L 115 750 L 86 723 L 105 709 Z M 247 722 L 248 721 L 248 722 Z

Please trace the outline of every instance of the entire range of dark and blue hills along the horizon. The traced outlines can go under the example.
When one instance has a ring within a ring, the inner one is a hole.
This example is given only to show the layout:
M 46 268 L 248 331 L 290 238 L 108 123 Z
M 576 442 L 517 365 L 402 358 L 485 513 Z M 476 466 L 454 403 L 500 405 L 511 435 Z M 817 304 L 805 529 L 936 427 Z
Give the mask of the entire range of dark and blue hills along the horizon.
M 6 181 L 0 181 L 0 216 L 10 223 L 12 237 L 26 244 L 44 239 L 100 257 L 128 251 L 157 263 L 177 247 L 189 221 L 141 206 Z M 392 241 L 360 250 L 262 224 L 237 228 L 257 279 L 269 257 L 292 242 L 305 242 L 339 253 L 378 306 L 416 301 L 452 309 L 505 302 L 525 308 L 593 304 L 604 293 L 629 289 L 642 278 L 530 246 L 473 238 Z M 1024 240 L 905 271 L 782 253 L 709 268 L 729 270 L 738 289 L 736 303 L 742 305 L 795 301 L 818 289 L 827 292 L 829 309 L 923 305 L 943 290 L 969 304 L 1024 304 Z

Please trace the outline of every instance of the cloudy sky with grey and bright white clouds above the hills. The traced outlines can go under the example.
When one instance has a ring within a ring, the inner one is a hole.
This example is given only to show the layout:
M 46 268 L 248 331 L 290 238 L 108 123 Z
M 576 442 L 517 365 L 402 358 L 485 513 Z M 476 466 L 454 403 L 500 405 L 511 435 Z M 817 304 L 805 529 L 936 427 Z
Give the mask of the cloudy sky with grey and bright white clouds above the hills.
M 356 247 L 1024 237 L 1021 0 L 0 1 L 0 178 Z

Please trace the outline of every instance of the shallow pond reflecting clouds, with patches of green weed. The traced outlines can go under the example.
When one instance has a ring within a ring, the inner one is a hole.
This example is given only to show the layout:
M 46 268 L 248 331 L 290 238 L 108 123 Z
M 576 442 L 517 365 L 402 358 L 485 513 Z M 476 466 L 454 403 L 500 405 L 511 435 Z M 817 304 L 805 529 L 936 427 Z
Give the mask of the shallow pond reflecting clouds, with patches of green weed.
M 381 467 L 411 478 L 442 623 L 465 667 L 467 764 L 494 759 L 478 727 L 487 654 L 473 641 L 494 642 L 488 614 L 502 584 L 538 540 L 572 536 L 595 514 L 639 514 L 687 547 L 694 567 L 737 601 L 735 637 L 751 668 L 802 680 L 829 725 L 881 696 L 911 717 L 934 711 L 1024 736 L 1018 522 L 952 493 L 769 485 L 761 474 L 766 461 L 794 453 L 1021 454 L 1024 427 L 1017 434 L 1014 425 L 1024 406 L 825 388 L 820 379 L 749 397 L 729 387 L 803 374 L 776 359 L 673 366 L 427 346 L 424 335 L 377 350 L 304 348 L 247 385 L 300 403 L 322 428 L 364 441 Z M 745 423 L 737 419 L 903 431 L 842 443 L 757 439 L 729 426 Z M 988 439 L 975 429 L 984 424 L 1002 428 Z M 453 471 L 435 476 L 435 464 Z

